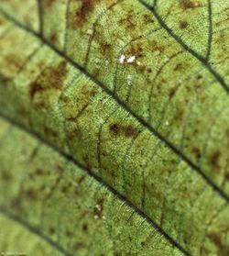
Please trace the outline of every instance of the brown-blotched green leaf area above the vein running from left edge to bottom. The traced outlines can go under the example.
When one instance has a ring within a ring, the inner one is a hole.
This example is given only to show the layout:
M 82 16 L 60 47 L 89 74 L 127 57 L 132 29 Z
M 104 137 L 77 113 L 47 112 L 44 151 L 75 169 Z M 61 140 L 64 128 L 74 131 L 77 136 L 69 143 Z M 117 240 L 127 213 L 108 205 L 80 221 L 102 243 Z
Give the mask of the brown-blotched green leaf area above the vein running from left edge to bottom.
M 1 115 L 90 170 L 180 252 L 227 255 L 228 7 L 2 1 Z

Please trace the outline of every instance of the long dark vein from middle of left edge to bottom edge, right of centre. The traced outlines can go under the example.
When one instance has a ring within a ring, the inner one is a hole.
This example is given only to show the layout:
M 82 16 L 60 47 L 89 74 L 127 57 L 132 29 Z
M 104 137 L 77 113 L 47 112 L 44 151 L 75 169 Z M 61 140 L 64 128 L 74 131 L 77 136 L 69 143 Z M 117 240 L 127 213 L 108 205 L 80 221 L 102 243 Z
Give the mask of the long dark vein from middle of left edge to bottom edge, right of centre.
M 0 117 L 5 119 L 8 123 L 12 124 L 16 128 L 19 128 L 20 130 L 26 132 L 30 136 L 34 137 L 35 139 L 38 139 L 38 141 L 41 141 L 44 145 L 48 146 L 50 149 L 54 150 L 55 152 L 59 153 L 61 157 L 66 159 L 67 161 L 71 161 L 73 164 L 78 166 L 79 168 L 82 169 L 85 173 L 87 173 L 90 177 L 92 177 L 94 180 L 96 180 L 99 184 L 104 185 L 104 187 L 109 190 L 111 193 L 113 193 L 117 198 L 119 198 L 122 202 L 125 203 L 126 206 L 129 206 L 131 209 L 134 210 L 136 214 L 138 214 L 140 217 L 143 217 L 146 219 L 147 223 L 154 229 L 156 229 L 165 239 L 169 241 L 169 243 L 176 247 L 178 250 L 180 250 L 183 254 L 191 256 L 191 253 L 188 250 L 185 250 L 178 241 L 175 239 L 172 239 L 169 234 L 163 229 L 158 226 L 158 224 L 151 219 L 150 217 L 147 216 L 145 212 L 143 212 L 141 209 L 139 209 L 137 206 L 135 206 L 128 198 L 126 198 L 124 195 L 121 195 L 118 191 L 116 191 L 110 184 L 107 184 L 104 179 L 102 179 L 100 176 L 97 174 L 93 173 L 90 169 L 87 169 L 85 166 L 82 165 L 79 161 L 76 161 L 75 159 L 72 158 L 71 155 L 65 153 L 62 151 L 60 148 L 56 147 L 55 145 L 49 143 L 49 141 L 46 141 L 46 139 L 43 139 L 38 135 L 38 133 L 34 132 L 31 129 L 25 128 L 23 125 L 17 123 L 15 120 L 13 120 L 11 117 L 5 116 L 4 113 L 0 111 Z M 1 211 L 1 207 L 0 207 Z M 24 226 L 27 226 L 27 228 L 31 228 L 27 223 L 23 223 Z M 38 230 L 37 230 L 38 233 Z M 47 239 L 47 238 L 46 238 Z M 50 242 L 50 241 L 49 241 Z M 58 246 L 58 245 L 56 245 Z M 70 254 L 66 254 L 70 255 Z

